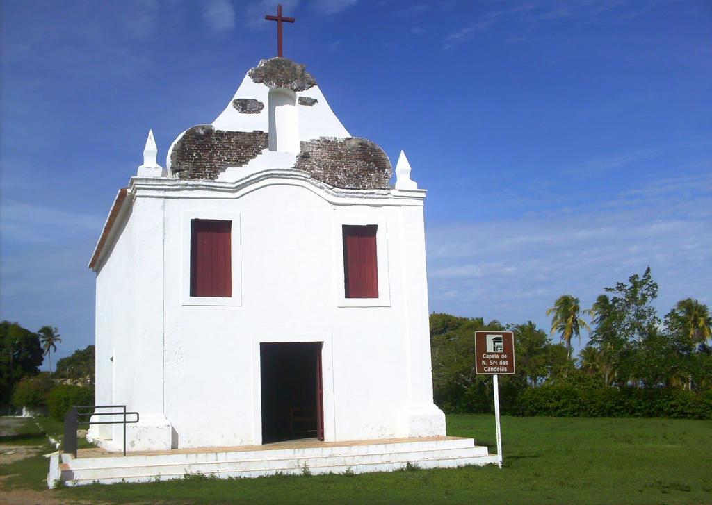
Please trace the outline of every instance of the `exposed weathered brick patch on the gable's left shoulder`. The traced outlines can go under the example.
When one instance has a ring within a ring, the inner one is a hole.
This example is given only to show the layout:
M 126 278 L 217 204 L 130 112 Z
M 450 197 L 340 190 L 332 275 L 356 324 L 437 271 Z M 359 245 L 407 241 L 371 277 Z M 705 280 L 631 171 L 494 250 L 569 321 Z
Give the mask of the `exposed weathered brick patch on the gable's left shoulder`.
M 227 132 L 199 124 L 173 147 L 171 171 L 179 179 L 217 179 L 227 167 L 242 166 L 267 147 L 267 132 Z

